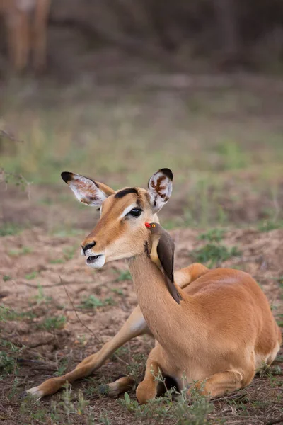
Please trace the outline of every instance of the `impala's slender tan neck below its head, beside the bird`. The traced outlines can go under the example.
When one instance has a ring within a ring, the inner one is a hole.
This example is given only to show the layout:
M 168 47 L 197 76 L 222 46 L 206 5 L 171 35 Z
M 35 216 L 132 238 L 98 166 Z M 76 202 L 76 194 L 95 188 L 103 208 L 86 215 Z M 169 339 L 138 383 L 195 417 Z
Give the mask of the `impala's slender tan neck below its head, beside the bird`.
M 139 307 L 155 339 L 161 346 L 167 348 L 170 344 L 172 346 L 180 344 L 178 329 L 182 325 L 182 312 L 184 307 L 189 307 L 187 322 L 190 322 L 192 297 L 185 295 L 180 304 L 175 302 L 166 287 L 163 273 L 146 254 L 130 259 L 129 270 L 137 292 Z

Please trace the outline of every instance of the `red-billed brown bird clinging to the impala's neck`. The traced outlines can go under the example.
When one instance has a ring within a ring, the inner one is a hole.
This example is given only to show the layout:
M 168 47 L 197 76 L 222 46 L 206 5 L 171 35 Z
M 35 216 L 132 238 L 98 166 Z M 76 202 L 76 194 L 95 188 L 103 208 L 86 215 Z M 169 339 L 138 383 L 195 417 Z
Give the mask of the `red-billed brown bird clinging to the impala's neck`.
M 174 300 L 180 304 L 182 297 L 174 284 L 175 244 L 170 234 L 158 223 L 146 222 L 145 226 L 151 231 L 152 235 L 151 252 L 149 254 L 151 261 L 163 271 L 169 292 Z

